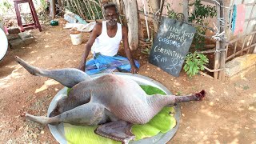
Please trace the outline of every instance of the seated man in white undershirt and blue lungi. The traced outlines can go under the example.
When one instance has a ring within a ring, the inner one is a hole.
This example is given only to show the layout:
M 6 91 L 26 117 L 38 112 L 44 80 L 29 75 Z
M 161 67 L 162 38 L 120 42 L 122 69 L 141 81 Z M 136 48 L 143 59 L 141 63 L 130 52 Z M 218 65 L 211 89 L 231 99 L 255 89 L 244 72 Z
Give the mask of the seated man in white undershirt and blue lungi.
M 114 3 L 103 6 L 106 21 L 97 23 L 86 43 L 86 50 L 82 55 L 80 70 L 86 74 L 110 73 L 113 71 L 138 73 L 139 63 L 134 61 L 128 44 L 128 30 L 117 22 L 118 8 Z M 126 57 L 117 55 L 120 42 L 126 52 Z M 90 50 L 94 58 L 86 62 Z

